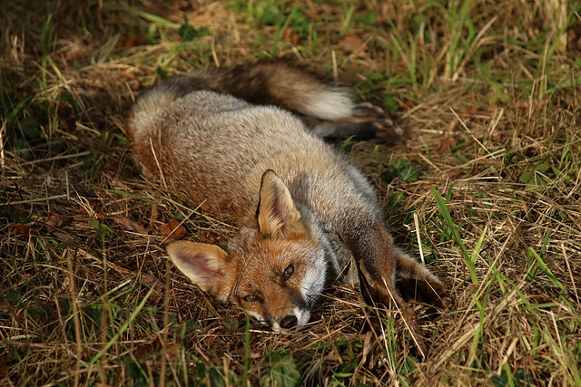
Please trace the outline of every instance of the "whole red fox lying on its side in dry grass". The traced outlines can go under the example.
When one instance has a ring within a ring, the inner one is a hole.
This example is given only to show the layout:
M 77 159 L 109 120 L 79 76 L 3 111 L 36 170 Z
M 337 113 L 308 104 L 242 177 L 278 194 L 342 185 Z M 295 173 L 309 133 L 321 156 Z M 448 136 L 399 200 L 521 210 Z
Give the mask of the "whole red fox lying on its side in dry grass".
M 276 332 L 309 323 L 334 280 L 360 280 L 367 302 L 395 301 L 410 320 L 398 288 L 443 305 L 444 285 L 393 245 L 369 182 L 320 139 L 343 131 L 398 140 L 378 111 L 281 62 L 189 73 L 145 92 L 127 125 L 134 159 L 239 227 L 220 246 L 168 244 L 175 266 Z

